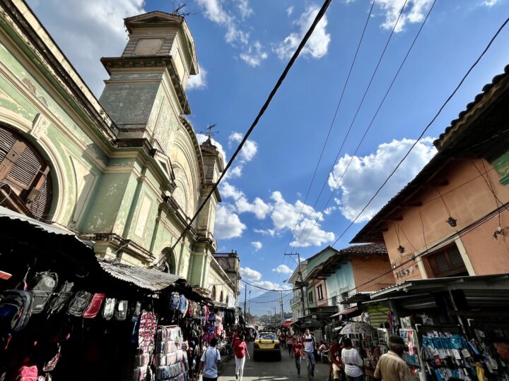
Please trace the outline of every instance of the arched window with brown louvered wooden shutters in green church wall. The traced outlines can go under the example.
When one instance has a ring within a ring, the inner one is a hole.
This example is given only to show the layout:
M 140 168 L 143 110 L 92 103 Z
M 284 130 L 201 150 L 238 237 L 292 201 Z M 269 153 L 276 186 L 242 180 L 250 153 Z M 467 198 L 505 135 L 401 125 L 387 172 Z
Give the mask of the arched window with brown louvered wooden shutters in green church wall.
M 0 204 L 45 218 L 52 201 L 49 164 L 21 134 L 0 125 Z

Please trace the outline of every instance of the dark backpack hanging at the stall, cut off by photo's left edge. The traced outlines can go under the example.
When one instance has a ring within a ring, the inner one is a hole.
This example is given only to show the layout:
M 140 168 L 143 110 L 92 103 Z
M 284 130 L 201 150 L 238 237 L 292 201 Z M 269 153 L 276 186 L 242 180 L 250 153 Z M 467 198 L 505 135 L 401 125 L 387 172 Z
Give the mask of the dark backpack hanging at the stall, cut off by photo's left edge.
M 25 290 L 6 290 L 0 294 L 0 334 L 25 328 L 32 312 L 33 296 Z

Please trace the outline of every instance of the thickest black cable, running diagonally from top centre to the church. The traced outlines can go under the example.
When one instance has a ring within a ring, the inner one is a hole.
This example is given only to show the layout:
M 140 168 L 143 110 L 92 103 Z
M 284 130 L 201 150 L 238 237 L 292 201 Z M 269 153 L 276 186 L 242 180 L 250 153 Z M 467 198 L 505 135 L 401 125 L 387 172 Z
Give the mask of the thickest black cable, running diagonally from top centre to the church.
M 310 36 L 312 35 L 313 30 L 315 30 L 317 24 L 320 22 L 320 20 L 324 16 L 325 11 L 327 11 L 327 8 L 329 8 L 329 5 L 330 5 L 331 1 L 332 0 L 325 0 L 324 1 L 324 4 L 322 5 L 322 8 L 320 8 L 320 11 L 318 11 L 317 16 L 315 17 L 315 20 L 313 20 L 313 22 L 312 22 L 308 32 L 306 32 L 305 36 L 303 37 L 303 40 L 300 42 L 300 44 L 299 44 L 299 46 L 298 46 L 298 48 L 296 50 L 296 52 L 293 53 L 293 56 L 291 57 L 290 61 L 288 61 L 286 67 L 283 70 L 283 73 L 281 73 L 281 76 L 279 77 L 279 80 L 277 81 L 277 83 L 274 86 L 274 88 L 271 90 L 271 92 L 269 94 L 269 97 L 267 97 L 267 100 L 264 102 L 264 104 L 262 106 L 262 109 L 260 109 L 260 111 L 258 112 L 256 118 L 254 119 L 253 123 L 251 124 L 250 128 L 247 130 L 247 133 L 245 133 L 244 138 L 242 138 L 239 146 L 237 147 L 237 149 L 233 153 L 232 157 L 230 158 L 230 161 L 228 162 L 228 164 L 226 164 L 226 167 L 225 167 L 224 171 L 221 173 L 221 176 L 219 176 L 218 181 L 216 181 L 216 183 L 212 186 L 211 191 L 209 192 L 209 194 L 201 202 L 201 205 L 199 206 L 197 212 L 194 213 L 194 216 L 192 217 L 192 219 L 187 223 L 185 229 L 182 231 L 182 234 L 180 234 L 179 238 L 177 238 L 177 241 L 175 241 L 175 243 L 171 247 L 170 251 L 175 250 L 175 247 L 180 242 L 180 240 L 185 236 L 185 234 L 187 234 L 187 231 L 189 231 L 189 229 L 191 229 L 192 223 L 194 222 L 195 219 L 197 219 L 199 212 L 201 212 L 201 210 L 205 207 L 206 202 L 209 201 L 209 199 L 211 198 L 213 193 L 218 188 L 219 183 L 221 183 L 221 180 L 226 175 L 226 172 L 228 171 L 228 169 L 233 164 L 233 161 L 235 160 L 235 158 L 239 154 L 240 150 L 242 150 L 242 147 L 244 146 L 245 142 L 247 141 L 247 138 L 249 138 L 249 136 L 251 135 L 252 131 L 254 130 L 254 127 L 257 126 L 259 120 L 262 118 L 263 114 L 265 113 L 265 111 L 269 107 L 269 104 L 271 103 L 272 98 L 274 98 L 274 95 L 276 95 L 276 92 L 279 90 L 279 87 L 281 87 L 281 84 L 283 83 L 283 80 L 285 80 L 286 75 L 288 75 L 288 72 L 290 71 L 290 69 L 293 66 L 293 63 L 295 63 L 295 61 L 297 60 L 300 52 L 304 48 L 306 42 L 308 42 Z M 163 256 L 163 258 L 161 258 L 160 262 L 162 262 L 163 260 L 165 260 L 164 256 Z

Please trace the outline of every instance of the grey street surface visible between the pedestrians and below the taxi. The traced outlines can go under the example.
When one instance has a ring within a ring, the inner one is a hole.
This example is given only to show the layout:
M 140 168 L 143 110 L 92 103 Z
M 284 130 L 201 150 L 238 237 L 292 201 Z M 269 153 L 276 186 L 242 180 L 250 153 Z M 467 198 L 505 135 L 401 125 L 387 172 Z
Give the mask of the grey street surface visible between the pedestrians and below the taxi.
M 253 344 L 248 346 L 252 358 Z M 244 381 L 272 381 L 272 380 L 308 380 L 305 361 L 303 361 L 300 370 L 300 378 L 297 377 L 297 370 L 293 358 L 288 356 L 288 350 L 282 350 L 281 361 L 246 361 L 244 367 Z M 327 380 L 329 375 L 329 365 L 317 363 L 315 367 L 315 378 L 317 381 Z M 235 360 L 232 358 L 221 372 L 219 381 L 235 381 Z

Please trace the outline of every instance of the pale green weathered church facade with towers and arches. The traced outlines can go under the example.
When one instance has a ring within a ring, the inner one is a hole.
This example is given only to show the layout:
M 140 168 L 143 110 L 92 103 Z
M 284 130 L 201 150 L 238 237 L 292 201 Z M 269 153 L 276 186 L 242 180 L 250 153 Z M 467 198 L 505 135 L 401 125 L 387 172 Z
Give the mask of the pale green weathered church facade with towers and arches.
M 202 294 L 238 296 L 213 258 L 223 171 L 200 144 L 185 93 L 198 72 L 185 19 L 125 19 L 122 56 L 96 99 L 23 1 L 0 4 L 1 206 L 75 231 L 100 258 L 165 267 Z M 174 247 L 175 246 L 175 247 Z

